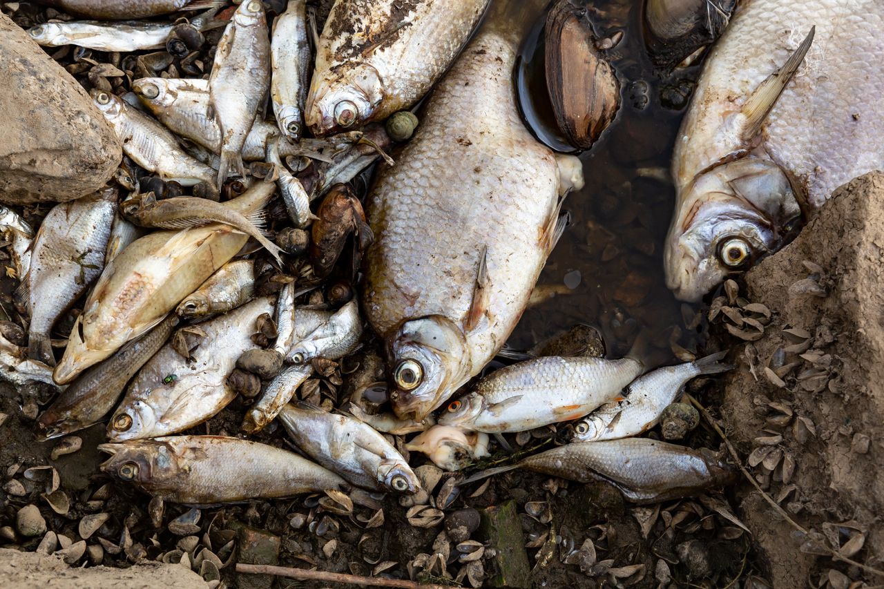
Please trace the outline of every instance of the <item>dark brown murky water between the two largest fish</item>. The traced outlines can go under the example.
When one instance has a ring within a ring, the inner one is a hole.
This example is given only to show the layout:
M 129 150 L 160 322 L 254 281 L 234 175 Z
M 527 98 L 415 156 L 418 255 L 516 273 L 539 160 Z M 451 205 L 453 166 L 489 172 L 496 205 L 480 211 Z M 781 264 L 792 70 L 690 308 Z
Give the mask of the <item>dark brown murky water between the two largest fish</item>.
M 682 324 L 682 303 L 666 287 L 663 240 L 674 203 L 669 162 L 690 89 L 698 75 L 691 67 L 659 75 L 644 49 L 642 4 L 628 0 L 586 3 L 599 38 L 623 31 L 607 51 L 621 80 L 621 108 L 599 141 L 581 154 L 586 186 L 568 195 L 563 209 L 571 225 L 553 250 L 540 277 L 541 292 L 566 291 L 527 310 L 509 340 L 527 348 L 575 323 L 596 326 L 608 353 L 620 355 L 645 327 L 665 360 L 670 340 L 693 350 L 697 333 L 673 333 Z M 525 79 L 518 79 L 523 109 L 538 136 L 556 146 L 542 70 L 543 19 L 522 48 Z M 539 41 L 539 44 L 538 44 Z M 537 131 L 536 131 L 537 133 Z

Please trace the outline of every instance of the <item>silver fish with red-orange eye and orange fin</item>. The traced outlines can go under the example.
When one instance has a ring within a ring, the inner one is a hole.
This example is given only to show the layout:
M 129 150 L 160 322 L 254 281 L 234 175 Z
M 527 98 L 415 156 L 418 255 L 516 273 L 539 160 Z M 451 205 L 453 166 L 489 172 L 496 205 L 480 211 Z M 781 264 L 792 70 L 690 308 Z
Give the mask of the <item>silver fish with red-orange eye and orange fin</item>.
M 493 371 L 449 403 L 439 425 L 475 432 L 524 432 L 583 417 L 620 398 L 644 371 L 632 358 L 545 356 Z

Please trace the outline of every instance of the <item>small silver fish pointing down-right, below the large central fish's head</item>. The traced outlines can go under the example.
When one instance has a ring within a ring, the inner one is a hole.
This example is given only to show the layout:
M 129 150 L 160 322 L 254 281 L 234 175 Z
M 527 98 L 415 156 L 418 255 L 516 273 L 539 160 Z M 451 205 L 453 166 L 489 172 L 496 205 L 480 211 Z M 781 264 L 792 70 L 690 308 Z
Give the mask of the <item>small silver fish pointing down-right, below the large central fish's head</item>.
M 396 448 L 358 419 L 302 401 L 288 403 L 279 419 L 301 452 L 355 486 L 409 495 L 421 488 Z

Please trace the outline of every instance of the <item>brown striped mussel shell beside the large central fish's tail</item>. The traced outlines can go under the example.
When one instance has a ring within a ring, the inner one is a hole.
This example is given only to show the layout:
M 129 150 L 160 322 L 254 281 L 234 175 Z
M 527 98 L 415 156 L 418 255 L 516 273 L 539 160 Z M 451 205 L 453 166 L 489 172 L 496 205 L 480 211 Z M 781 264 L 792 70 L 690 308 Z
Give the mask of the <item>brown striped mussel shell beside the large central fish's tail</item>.
M 586 10 L 560 0 L 545 26 L 546 87 L 560 132 L 590 149 L 620 108 L 620 82 L 596 49 Z

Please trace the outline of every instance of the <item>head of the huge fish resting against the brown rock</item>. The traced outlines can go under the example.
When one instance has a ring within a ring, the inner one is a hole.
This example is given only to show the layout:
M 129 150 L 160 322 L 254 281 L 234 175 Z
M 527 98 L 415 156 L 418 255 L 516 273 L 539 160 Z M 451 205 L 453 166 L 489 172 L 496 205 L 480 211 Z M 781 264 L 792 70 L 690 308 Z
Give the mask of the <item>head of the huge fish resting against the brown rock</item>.
M 786 173 L 758 157 L 717 165 L 682 192 L 664 252 L 667 286 L 682 301 L 779 249 L 801 218 Z

